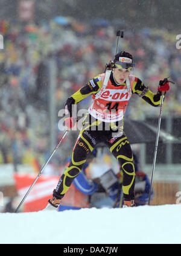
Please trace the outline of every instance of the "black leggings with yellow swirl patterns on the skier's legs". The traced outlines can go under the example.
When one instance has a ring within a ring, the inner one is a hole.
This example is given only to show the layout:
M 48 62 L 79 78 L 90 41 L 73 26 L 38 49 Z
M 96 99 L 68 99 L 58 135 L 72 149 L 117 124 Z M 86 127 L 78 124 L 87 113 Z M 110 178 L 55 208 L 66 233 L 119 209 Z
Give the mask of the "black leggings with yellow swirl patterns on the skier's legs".
M 62 195 L 68 191 L 74 178 L 80 173 L 86 162 L 87 155 L 92 152 L 98 143 L 102 142 L 109 147 L 110 152 L 115 156 L 122 168 L 122 191 L 124 193 L 124 199 L 134 199 L 135 167 L 133 164 L 132 149 L 125 133 L 123 131 L 121 132 L 120 127 L 115 126 L 116 124 L 113 124 L 107 130 L 106 126 L 110 126 L 110 123 L 107 123 L 105 126 L 105 123 L 100 120 L 92 120 L 91 118 L 90 121 L 90 117 L 87 114 L 86 118 L 84 118 L 82 129 L 72 152 L 71 162 L 60 177 L 56 190 L 54 190 L 54 196 L 57 198 L 60 196 L 62 198 Z

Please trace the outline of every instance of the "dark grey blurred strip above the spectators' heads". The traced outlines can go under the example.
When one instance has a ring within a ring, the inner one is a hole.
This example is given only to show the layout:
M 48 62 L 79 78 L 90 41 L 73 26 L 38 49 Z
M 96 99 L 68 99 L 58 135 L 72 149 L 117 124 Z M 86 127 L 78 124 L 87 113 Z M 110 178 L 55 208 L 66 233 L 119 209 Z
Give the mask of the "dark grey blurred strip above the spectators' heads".
M 19 0 L 1 0 L 1 18 L 18 21 Z M 167 28 L 180 29 L 181 1 L 179 0 L 38 0 L 34 1 L 35 21 L 51 19 L 57 15 L 72 16 L 87 22 L 107 19 L 116 25 L 122 22 L 129 29 Z M 106 10 L 106 11 L 105 11 Z

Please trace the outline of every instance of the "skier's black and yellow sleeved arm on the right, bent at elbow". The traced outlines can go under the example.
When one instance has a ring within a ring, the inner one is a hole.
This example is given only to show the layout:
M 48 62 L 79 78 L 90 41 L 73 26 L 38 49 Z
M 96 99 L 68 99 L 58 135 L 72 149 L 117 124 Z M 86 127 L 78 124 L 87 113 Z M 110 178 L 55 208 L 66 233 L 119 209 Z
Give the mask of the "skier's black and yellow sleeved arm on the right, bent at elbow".
M 133 82 L 132 92 L 138 94 L 142 97 L 143 100 L 147 101 L 151 106 L 157 107 L 161 103 L 162 93 L 157 92 L 154 94 L 144 85 L 144 83 L 138 78 L 135 77 L 135 82 Z

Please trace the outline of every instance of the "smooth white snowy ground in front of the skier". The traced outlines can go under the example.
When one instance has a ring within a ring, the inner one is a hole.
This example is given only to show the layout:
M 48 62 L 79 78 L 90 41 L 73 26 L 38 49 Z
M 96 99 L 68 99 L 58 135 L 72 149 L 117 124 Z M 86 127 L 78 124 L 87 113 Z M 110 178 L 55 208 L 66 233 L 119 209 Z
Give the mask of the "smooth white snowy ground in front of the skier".
M 181 204 L 0 213 L 1 244 L 181 243 Z

